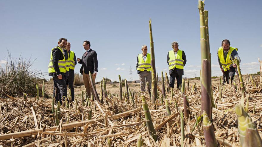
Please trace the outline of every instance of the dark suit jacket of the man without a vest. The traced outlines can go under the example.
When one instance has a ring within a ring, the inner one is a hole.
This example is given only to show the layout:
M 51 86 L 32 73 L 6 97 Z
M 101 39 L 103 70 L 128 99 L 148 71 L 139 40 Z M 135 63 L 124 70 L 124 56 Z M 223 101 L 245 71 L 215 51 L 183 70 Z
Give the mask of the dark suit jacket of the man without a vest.
M 96 54 L 96 51 L 94 51 L 92 49 L 90 49 L 88 51 L 86 56 L 85 56 L 85 53 L 84 53 L 83 56 L 82 56 L 82 59 L 78 63 L 82 64 L 82 66 L 80 68 L 81 74 L 83 72 L 83 68 L 84 68 L 85 74 L 89 74 L 89 71 L 91 72 L 91 74 L 93 74 L 94 72 L 98 72 L 98 70 L 97 70 L 97 65 L 98 65 L 97 54 Z

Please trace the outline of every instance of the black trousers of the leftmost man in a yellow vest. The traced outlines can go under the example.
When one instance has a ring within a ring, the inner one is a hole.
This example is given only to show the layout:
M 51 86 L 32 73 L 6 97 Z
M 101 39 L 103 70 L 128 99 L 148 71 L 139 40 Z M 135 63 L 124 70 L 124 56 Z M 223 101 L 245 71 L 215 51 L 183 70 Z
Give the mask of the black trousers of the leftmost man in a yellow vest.
M 66 81 L 65 76 L 61 80 L 57 78 L 57 76 L 53 76 L 54 80 L 54 90 L 53 90 L 53 97 L 55 97 L 55 104 L 59 101 L 62 105 L 61 97 L 67 97 L 67 89 L 66 89 Z

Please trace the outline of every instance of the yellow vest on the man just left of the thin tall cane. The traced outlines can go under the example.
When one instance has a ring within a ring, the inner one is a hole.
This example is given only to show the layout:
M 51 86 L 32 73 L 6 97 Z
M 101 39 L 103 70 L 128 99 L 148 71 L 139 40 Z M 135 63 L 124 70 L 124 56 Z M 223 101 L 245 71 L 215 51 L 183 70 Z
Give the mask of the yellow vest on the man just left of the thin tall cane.
M 145 69 L 148 72 L 151 71 L 151 54 L 150 53 L 147 53 L 146 61 L 144 61 L 142 54 L 138 55 L 138 67 L 137 67 L 137 70 L 144 71 Z

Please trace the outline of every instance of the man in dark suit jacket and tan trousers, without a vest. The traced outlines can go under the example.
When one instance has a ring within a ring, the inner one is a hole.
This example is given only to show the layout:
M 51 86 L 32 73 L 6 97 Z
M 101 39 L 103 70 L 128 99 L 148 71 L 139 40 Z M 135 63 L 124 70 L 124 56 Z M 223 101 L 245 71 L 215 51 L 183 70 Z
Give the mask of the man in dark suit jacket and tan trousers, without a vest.
M 85 91 L 88 97 L 91 96 L 91 93 L 94 97 L 94 91 L 92 89 L 91 85 L 91 80 L 89 77 L 89 72 L 91 72 L 91 76 L 95 82 L 96 79 L 96 73 L 98 72 L 97 70 L 97 54 L 96 51 L 92 50 L 90 48 L 90 42 L 89 41 L 84 41 L 83 47 L 86 50 L 85 53 L 82 56 L 82 59 L 77 58 L 77 62 L 79 64 L 82 64 L 80 68 L 80 73 L 83 75 L 83 80 L 85 84 Z

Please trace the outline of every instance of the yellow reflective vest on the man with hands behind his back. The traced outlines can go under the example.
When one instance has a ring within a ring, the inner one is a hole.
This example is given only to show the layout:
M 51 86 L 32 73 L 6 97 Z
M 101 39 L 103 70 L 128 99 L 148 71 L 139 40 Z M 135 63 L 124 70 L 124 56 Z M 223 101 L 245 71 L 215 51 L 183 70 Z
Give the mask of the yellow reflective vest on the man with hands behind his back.
M 169 51 L 169 70 L 170 69 L 184 69 L 184 60 L 182 59 L 182 54 L 183 51 L 182 50 L 178 50 L 177 51 L 177 57 L 175 56 L 174 50 L 170 50 Z

